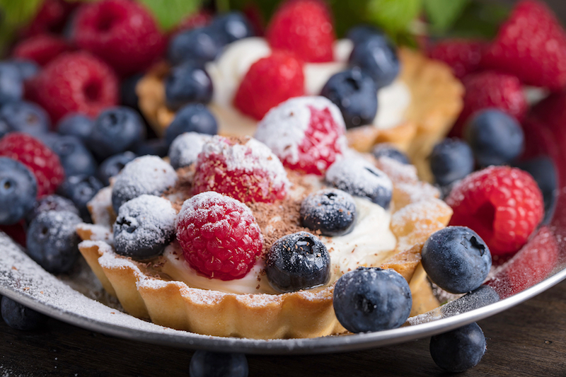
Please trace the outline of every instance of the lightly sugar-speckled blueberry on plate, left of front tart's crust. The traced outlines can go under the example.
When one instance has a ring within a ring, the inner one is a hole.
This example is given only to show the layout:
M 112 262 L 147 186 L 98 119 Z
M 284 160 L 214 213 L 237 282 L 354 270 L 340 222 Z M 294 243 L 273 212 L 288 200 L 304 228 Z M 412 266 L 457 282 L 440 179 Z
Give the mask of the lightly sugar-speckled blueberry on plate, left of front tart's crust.
M 26 243 L 30 257 L 47 272 L 69 272 L 79 257 L 75 228 L 81 218 L 67 211 L 47 211 L 30 224 Z

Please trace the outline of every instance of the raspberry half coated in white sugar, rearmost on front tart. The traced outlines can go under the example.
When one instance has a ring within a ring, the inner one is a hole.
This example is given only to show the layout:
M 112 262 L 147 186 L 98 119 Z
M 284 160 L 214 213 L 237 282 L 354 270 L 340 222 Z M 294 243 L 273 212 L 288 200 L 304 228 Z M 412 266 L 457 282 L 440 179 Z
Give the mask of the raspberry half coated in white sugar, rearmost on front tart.
M 323 175 L 346 148 L 340 109 L 324 97 L 291 98 L 258 124 L 255 138 L 271 148 L 284 166 Z

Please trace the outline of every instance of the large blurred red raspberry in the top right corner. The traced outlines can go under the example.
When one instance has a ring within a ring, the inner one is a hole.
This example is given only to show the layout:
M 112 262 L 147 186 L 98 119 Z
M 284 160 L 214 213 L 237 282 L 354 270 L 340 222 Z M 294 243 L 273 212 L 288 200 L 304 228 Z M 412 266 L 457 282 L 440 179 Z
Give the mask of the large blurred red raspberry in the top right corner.
M 495 42 L 485 52 L 483 66 L 514 74 L 533 86 L 566 86 L 566 33 L 542 2 L 520 1 Z

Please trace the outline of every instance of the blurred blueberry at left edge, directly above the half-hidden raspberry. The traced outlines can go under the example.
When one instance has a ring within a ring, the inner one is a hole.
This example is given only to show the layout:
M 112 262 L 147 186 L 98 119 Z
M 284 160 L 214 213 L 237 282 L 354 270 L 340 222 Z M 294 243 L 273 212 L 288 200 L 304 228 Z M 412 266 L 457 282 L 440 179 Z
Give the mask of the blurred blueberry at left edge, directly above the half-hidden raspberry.
M 0 108 L 0 122 L 5 122 L 12 131 L 25 132 L 42 137 L 50 129 L 47 112 L 35 103 L 20 101 L 6 103 Z

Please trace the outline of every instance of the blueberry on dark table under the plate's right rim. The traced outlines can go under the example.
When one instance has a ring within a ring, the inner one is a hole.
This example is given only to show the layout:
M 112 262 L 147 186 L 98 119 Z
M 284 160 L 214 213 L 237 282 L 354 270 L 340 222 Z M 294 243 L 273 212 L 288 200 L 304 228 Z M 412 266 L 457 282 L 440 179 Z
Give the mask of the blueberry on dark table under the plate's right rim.
M 432 359 L 441 369 L 451 373 L 463 372 L 478 365 L 485 349 L 485 336 L 477 323 L 430 338 Z

